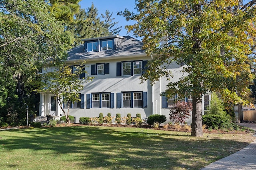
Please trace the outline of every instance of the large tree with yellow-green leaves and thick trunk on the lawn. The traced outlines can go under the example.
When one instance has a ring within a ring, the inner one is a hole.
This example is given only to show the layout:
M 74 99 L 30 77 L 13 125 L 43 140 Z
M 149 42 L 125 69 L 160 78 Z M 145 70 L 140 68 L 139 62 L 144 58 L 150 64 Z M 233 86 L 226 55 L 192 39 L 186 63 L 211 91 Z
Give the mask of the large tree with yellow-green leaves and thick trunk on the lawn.
M 192 136 L 202 136 L 202 95 L 219 92 L 233 104 L 248 104 L 254 78 L 255 2 L 241 0 L 136 0 L 138 14 L 119 12 L 128 31 L 142 37 L 144 49 L 155 57 L 142 81 L 166 78 L 166 94 L 192 94 Z M 172 81 L 168 65 L 183 66 Z

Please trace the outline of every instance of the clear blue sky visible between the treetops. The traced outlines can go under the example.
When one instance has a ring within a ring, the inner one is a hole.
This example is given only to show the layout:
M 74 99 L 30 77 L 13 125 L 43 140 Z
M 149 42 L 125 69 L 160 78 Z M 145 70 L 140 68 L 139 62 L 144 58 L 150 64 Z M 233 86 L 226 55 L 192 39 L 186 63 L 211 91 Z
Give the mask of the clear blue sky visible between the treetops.
M 92 6 L 92 3 L 98 9 L 99 16 L 101 16 L 100 14 L 105 14 L 106 10 L 108 10 L 110 13 L 113 12 L 112 18 L 115 18 L 114 21 L 118 22 L 118 26 L 122 26 L 122 30 L 120 31 L 119 35 L 128 35 L 127 30 L 124 29 L 124 26 L 132 25 L 134 22 L 127 22 L 124 17 L 117 16 L 116 13 L 118 11 L 124 11 L 125 8 L 130 11 L 136 12 L 136 10 L 134 10 L 135 0 L 81 0 L 79 4 L 81 8 L 86 10 L 87 8 Z

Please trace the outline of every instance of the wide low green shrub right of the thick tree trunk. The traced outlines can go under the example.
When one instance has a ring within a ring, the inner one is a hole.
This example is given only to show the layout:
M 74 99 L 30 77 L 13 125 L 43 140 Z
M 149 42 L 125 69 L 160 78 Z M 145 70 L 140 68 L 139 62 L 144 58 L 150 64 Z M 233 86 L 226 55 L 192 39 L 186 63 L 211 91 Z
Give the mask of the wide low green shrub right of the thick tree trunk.
M 230 128 L 232 126 L 230 115 L 226 114 L 207 114 L 202 115 L 203 124 L 207 125 L 208 128 Z

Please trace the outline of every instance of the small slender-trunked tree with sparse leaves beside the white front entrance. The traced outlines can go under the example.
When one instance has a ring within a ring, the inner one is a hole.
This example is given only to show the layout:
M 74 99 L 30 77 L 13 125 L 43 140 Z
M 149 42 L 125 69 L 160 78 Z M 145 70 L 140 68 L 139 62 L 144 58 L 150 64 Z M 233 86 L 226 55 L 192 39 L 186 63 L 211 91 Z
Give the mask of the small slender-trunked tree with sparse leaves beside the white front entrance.
M 69 120 L 69 109 L 71 102 L 80 101 L 78 92 L 83 89 L 82 83 L 92 80 L 92 77 L 85 76 L 84 63 L 76 66 L 76 72 L 72 72 L 70 66 L 62 63 L 56 65 L 53 70 L 41 75 L 42 83 L 38 89 L 39 92 L 51 92 L 55 95 L 58 105 L 66 116 L 66 122 Z M 78 75 L 84 75 L 78 79 Z M 63 103 L 67 104 L 68 111 L 63 108 Z

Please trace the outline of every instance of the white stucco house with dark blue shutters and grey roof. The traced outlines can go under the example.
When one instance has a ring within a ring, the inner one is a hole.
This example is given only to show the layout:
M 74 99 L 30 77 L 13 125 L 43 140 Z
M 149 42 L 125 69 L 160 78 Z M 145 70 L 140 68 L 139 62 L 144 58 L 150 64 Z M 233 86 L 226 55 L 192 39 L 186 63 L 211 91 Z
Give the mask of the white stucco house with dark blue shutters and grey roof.
M 160 78 L 153 86 L 149 80 L 140 84 L 139 78 L 147 62 L 154 57 L 146 55 L 142 50 L 141 41 L 119 35 L 82 41 L 83 45 L 70 49 L 66 63 L 74 66 L 74 63 L 85 60 L 88 76 L 95 78 L 83 84 L 84 89 L 80 91 L 81 101 L 74 102 L 71 106 L 70 115 L 76 117 L 76 122 L 80 117 L 98 117 L 99 113 L 103 113 L 104 116 L 107 113 L 111 113 L 112 116 L 120 113 L 122 117 L 127 113 L 131 113 L 132 117 L 140 113 L 142 118 L 160 114 L 166 115 L 169 119 L 169 108 L 174 105 L 178 94 L 168 99 L 160 95 L 166 90 L 166 78 Z M 174 74 L 173 81 L 182 76 L 182 66 L 172 64 L 168 69 Z M 205 95 L 203 99 L 204 110 L 211 96 Z M 178 100 L 192 102 L 192 97 L 187 96 Z M 54 96 L 50 93 L 41 93 L 39 116 L 49 114 L 63 116 Z M 191 119 L 188 123 L 191 123 Z

